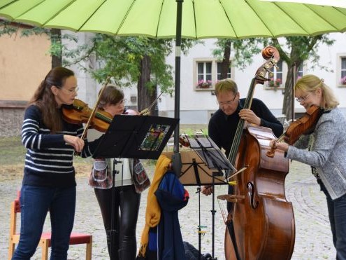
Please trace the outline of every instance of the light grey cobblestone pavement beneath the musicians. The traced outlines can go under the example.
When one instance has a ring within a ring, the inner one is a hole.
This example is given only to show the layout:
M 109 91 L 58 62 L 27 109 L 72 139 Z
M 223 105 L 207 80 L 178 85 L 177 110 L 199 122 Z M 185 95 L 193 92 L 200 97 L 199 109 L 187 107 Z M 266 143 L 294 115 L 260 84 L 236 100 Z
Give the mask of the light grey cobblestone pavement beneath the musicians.
M 108 259 L 106 238 L 99 206 L 94 191 L 87 186 L 87 177 L 78 176 L 77 209 L 73 231 L 91 233 L 93 235 L 93 259 Z M 7 259 L 8 224 L 10 220 L 10 203 L 15 197 L 15 191 L 20 188 L 21 179 L 1 182 L 0 185 L 0 259 Z M 186 186 L 190 199 L 185 208 L 179 212 L 182 238 L 199 248 L 199 196 L 196 186 Z M 296 221 L 296 241 L 292 259 L 335 259 L 329 219 L 326 210 L 326 200 L 310 167 L 293 162 L 287 175 L 286 198 L 293 203 Z M 226 193 L 225 186 L 217 186 L 215 195 Z M 143 193 L 137 226 L 137 239 L 144 226 L 147 191 Z M 201 252 L 212 252 L 212 196 L 201 196 L 201 225 L 206 226 L 201 236 Z M 225 226 L 215 199 L 215 257 L 224 259 L 224 230 Z M 49 221 L 48 221 L 49 222 Z M 49 226 L 47 226 L 49 228 Z M 72 245 L 69 249 L 69 259 L 85 259 L 85 245 Z M 38 249 L 33 259 L 41 259 Z

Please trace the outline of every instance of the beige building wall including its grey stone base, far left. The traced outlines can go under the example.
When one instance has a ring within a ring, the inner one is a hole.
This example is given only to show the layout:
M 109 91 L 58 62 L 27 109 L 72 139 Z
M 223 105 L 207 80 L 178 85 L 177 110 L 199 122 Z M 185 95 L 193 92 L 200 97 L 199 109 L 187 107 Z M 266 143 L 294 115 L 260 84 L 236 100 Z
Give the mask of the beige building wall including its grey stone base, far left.
M 24 108 L 50 70 L 48 36 L 0 37 L 0 137 L 20 135 Z

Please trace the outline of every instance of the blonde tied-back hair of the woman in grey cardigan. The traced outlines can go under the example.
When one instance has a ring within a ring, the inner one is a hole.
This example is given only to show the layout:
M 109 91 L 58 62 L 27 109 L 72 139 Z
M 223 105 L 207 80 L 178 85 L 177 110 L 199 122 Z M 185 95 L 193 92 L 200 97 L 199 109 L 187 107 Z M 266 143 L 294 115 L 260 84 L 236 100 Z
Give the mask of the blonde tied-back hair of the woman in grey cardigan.
M 338 99 L 334 95 L 333 90 L 324 83 L 323 78 L 308 74 L 299 78 L 296 85 L 294 85 L 294 90 L 301 90 L 308 93 L 313 93 L 318 88 L 322 90 L 322 109 L 333 109 L 338 106 Z

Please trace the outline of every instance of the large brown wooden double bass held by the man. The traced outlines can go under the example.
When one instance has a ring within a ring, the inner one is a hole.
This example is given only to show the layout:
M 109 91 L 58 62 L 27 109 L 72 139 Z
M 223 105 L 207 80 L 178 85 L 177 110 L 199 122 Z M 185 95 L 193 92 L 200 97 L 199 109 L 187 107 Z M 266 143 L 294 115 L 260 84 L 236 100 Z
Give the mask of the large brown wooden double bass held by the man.
M 254 88 L 268 81 L 266 74 L 280 59 L 276 48 L 262 50 L 267 60 L 252 78 L 244 108 L 250 109 Z M 236 169 L 231 175 L 236 182 L 229 195 L 233 209 L 226 220 L 226 259 L 291 259 L 294 249 L 294 212 L 285 198 L 284 179 L 289 172 L 289 160 L 282 151 L 273 158 L 266 156 L 269 143 L 275 139 L 270 128 L 248 125 L 240 119 L 233 139 L 229 161 Z

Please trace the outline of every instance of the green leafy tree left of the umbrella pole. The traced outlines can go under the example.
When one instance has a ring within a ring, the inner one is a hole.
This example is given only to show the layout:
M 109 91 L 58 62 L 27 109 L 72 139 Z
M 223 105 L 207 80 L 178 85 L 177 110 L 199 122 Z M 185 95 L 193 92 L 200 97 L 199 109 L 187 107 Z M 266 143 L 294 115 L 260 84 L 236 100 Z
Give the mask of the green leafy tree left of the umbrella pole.
M 184 43 L 182 48 L 186 51 L 193 41 Z M 156 99 L 158 87 L 163 93 L 173 93 L 173 68 L 166 64 L 166 57 L 172 50 L 173 40 L 95 34 L 89 43 L 74 50 L 64 50 L 64 56 L 68 57 L 64 63 L 82 66 L 82 61 L 94 55 L 97 68 L 82 69 L 89 71 L 99 82 L 109 75 L 120 87 L 136 84 L 138 111 L 141 111 Z

